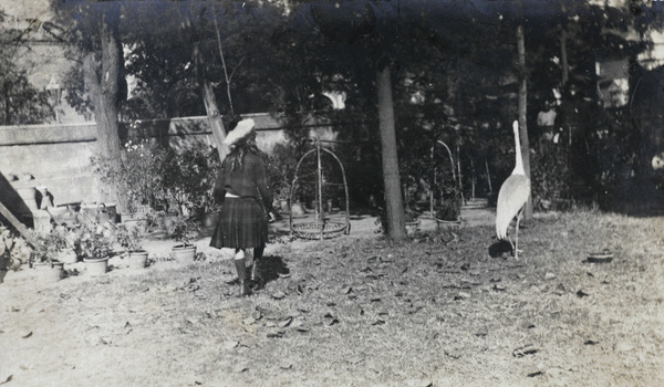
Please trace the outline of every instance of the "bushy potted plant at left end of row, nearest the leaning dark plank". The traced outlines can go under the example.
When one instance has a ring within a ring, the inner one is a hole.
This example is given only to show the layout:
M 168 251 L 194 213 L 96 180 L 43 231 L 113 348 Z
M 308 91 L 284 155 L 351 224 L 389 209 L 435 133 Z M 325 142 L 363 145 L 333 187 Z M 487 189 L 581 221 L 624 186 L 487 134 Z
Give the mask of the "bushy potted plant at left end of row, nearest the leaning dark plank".
M 66 226 L 56 224 L 45 233 L 37 233 L 30 261 L 38 278 L 45 282 L 60 281 L 64 263 L 77 260 L 74 251 L 76 234 Z

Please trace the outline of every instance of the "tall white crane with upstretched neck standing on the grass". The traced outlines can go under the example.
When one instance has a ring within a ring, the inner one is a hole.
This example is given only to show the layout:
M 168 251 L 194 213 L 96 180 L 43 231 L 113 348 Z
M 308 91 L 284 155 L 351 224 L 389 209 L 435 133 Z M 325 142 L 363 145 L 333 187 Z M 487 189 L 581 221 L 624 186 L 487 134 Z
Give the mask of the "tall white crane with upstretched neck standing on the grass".
M 515 170 L 505 180 L 498 192 L 498 206 L 496 208 L 496 237 L 499 240 L 508 240 L 515 251 L 515 257 L 519 259 L 519 222 L 523 213 L 523 208 L 530 196 L 530 179 L 523 170 L 523 159 L 521 158 L 521 143 L 519 142 L 519 122 L 512 124 L 515 132 L 515 153 L 517 163 Z M 512 219 L 517 217 L 516 245 L 507 238 L 507 228 Z

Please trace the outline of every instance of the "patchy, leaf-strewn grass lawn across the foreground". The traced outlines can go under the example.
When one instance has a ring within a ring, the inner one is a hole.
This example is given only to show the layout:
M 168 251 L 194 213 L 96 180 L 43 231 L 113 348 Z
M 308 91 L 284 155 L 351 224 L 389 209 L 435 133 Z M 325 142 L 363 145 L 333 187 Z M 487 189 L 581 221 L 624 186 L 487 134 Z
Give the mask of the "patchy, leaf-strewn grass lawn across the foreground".
M 8 386 L 664 385 L 663 226 L 592 211 L 540 217 L 520 232 L 519 261 L 490 257 L 490 227 L 398 243 L 280 244 L 268 257 L 268 283 L 247 299 L 235 296 L 227 261 L 0 289 L 9 300 L 0 310 L 0 378 L 11 376 Z M 612 262 L 585 261 L 602 249 L 614 252 Z

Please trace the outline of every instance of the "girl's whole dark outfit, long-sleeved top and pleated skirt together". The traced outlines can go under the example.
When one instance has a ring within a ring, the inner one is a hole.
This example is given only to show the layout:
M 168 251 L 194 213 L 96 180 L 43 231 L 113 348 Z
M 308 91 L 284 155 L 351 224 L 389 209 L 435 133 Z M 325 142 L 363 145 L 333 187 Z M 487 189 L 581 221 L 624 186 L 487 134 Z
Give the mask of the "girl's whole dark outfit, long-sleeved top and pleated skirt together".
M 226 192 L 238 198 L 226 198 Z M 221 206 L 221 218 L 210 245 L 217 249 L 262 248 L 268 242 L 268 211 L 272 210 L 272 191 L 263 160 L 247 151 L 241 167 L 230 165 L 219 170 L 214 194 Z

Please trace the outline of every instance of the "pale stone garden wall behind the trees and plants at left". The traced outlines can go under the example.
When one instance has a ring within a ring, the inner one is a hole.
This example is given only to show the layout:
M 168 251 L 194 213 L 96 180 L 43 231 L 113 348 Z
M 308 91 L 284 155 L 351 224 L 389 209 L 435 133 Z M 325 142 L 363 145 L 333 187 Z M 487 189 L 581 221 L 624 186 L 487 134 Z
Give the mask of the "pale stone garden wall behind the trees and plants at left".
M 268 114 L 248 117 L 257 123 L 258 146 L 270 153 L 286 139 L 280 123 Z M 325 139 L 335 138 L 330 126 L 312 125 L 310 133 Z M 176 149 L 194 144 L 214 146 L 207 118 L 187 117 L 138 121 L 121 126 L 121 137 L 155 138 Z M 98 182 L 90 158 L 96 147 L 96 125 L 50 124 L 0 127 L 0 174 L 13 187 L 45 186 L 55 206 L 71 202 L 100 202 Z

